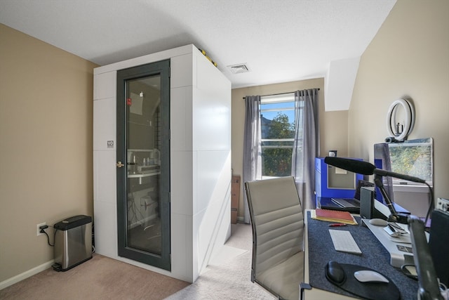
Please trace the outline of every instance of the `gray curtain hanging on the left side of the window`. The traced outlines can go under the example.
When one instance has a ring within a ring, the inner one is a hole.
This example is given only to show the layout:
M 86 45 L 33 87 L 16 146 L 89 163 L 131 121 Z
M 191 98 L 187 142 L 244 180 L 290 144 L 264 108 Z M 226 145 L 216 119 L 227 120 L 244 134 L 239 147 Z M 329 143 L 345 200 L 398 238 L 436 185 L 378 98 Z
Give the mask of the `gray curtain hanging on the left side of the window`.
M 260 144 L 260 96 L 245 97 L 245 132 L 243 133 L 243 183 L 262 179 L 262 147 Z M 243 221 L 250 223 L 248 200 L 243 191 Z

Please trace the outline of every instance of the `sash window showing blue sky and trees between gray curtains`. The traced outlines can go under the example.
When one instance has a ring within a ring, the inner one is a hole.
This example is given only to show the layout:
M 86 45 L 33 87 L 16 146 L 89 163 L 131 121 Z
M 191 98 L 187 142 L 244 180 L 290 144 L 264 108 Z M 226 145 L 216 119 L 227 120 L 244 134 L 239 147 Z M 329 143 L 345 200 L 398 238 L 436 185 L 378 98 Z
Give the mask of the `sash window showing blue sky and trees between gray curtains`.
M 262 96 L 262 178 L 290 176 L 295 138 L 295 94 Z

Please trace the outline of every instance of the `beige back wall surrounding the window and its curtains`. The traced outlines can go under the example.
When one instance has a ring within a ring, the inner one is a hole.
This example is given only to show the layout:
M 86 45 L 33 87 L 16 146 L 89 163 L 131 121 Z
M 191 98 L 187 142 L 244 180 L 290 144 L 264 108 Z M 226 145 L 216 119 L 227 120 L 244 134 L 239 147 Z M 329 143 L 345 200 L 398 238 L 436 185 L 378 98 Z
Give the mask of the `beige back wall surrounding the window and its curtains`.
M 251 86 L 232 90 L 232 171 L 234 175 L 243 176 L 243 128 L 245 123 L 244 96 L 270 95 L 288 93 L 302 89 L 319 88 L 319 119 L 321 126 L 321 156 L 329 150 L 337 150 L 338 156 L 347 156 L 347 111 L 324 111 L 324 79 L 293 81 L 284 84 Z M 241 183 L 239 200 L 239 219 L 243 218 L 243 183 Z

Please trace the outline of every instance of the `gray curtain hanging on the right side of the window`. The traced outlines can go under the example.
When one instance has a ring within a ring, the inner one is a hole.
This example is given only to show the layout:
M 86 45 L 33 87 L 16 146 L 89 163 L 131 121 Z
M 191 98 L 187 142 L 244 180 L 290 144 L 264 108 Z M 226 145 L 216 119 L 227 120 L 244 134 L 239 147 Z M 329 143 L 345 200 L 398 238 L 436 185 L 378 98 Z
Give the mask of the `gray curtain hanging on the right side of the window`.
M 300 193 L 302 209 L 315 208 L 315 157 L 320 153 L 318 91 L 295 91 L 292 176 Z

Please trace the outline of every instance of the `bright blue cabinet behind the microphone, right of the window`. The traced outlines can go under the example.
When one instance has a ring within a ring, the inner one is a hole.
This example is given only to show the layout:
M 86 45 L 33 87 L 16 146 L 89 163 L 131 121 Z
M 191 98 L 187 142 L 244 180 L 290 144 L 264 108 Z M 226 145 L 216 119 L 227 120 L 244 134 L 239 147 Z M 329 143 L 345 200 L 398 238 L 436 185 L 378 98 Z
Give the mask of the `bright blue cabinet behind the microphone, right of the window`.
M 359 180 L 363 180 L 363 175 L 330 166 L 324 157 L 315 158 L 315 201 L 318 197 L 354 197 Z

